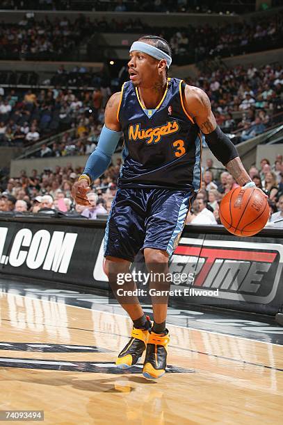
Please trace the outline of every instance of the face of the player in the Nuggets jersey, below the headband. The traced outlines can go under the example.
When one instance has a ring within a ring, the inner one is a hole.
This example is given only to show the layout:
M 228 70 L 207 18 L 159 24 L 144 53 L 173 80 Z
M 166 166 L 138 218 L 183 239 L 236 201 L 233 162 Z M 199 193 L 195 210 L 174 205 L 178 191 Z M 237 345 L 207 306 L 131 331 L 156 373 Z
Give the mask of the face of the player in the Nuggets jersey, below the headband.
M 159 61 L 152 56 L 140 51 L 131 51 L 128 62 L 130 80 L 136 87 L 152 86 L 152 82 L 159 77 L 158 65 Z

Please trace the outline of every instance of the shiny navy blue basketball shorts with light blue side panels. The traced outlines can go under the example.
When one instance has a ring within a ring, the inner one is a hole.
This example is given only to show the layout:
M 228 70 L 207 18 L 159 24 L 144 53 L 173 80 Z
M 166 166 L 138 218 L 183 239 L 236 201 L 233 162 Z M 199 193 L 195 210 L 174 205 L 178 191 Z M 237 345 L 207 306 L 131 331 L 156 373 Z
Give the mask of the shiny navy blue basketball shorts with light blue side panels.
M 131 263 L 140 249 L 175 251 L 193 191 L 118 189 L 111 206 L 104 238 L 104 256 Z

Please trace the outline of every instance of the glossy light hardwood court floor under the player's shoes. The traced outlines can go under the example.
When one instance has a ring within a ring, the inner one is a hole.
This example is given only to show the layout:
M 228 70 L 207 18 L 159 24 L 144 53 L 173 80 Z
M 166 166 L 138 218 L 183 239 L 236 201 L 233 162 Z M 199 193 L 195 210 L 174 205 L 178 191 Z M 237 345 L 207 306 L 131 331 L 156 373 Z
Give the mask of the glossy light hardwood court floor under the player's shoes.
M 169 326 L 170 373 L 113 366 L 127 317 L 0 292 L 0 410 L 45 424 L 279 424 L 283 347 Z

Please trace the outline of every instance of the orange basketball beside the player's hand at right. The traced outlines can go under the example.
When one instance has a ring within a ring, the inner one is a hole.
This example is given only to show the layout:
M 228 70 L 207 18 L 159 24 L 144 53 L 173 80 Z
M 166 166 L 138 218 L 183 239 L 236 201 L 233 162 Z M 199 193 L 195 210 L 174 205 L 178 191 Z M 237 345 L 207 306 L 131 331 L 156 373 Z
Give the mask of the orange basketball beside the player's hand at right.
M 267 198 L 257 188 L 235 188 L 221 201 L 219 217 L 223 226 L 233 235 L 255 235 L 268 221 Z

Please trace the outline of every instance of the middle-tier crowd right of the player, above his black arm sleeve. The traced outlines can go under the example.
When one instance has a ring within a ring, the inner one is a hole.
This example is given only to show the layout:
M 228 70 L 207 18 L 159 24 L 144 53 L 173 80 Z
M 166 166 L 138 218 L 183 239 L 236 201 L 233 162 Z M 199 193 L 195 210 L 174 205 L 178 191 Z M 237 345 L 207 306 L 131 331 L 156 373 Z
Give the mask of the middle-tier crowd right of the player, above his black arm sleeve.
M 283 111 L 283 68 L 280 64 L 248 69 L 242 65 L 200 74 L 188 83 L 202 88 L 211 99 L 216 122 L 225 133 L 235 133 L 234 142 L 253 138 L 273 124 Z M 233 113 L 241 113 L 238 119 Z

